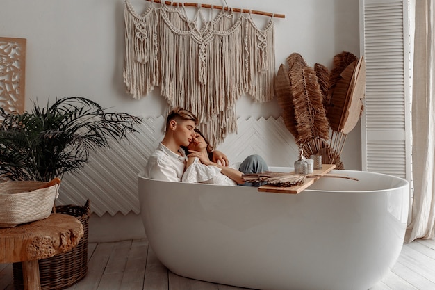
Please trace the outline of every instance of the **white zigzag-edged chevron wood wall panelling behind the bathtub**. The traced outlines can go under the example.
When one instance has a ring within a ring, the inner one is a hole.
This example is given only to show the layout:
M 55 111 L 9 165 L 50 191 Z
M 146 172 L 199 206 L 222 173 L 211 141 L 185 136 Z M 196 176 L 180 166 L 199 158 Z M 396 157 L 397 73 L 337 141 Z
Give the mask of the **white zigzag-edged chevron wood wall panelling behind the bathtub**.
M 138 173 L 163 138 L 165 117 L 147 117 L 122 144 L 110 143 L 109 150 L 91 154 L 89 162 L 78 172 L 63 177 L 56 204 L 85 204 L 98 216 L 140 212 Z M 234 163 L 250 154 L 263 156 L 270 166 L 293 166 L 297 145 L 282 118 L 238 119 L 238 132 L 227 136 L 217 147 Z

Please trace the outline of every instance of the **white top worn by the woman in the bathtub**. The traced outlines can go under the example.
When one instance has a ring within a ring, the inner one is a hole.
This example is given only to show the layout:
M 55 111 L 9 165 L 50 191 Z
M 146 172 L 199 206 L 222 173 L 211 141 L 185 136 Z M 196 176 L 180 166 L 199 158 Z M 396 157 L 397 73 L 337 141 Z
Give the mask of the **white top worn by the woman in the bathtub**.
M 223 175 L 217 166 L 206 166 L 202 164 L 197 157 L 186 169 L 181 178 L 182 182 L 203 183 L 203 184 L 220 184 L 220 185 L 237 185 L 233 179 Z

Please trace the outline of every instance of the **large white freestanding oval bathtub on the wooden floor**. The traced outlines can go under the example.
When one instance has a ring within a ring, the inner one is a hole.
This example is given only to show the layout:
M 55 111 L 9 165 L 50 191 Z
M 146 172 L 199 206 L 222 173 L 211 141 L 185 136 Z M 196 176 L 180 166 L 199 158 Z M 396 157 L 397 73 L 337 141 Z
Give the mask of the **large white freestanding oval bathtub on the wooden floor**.
M 270 168 L 288 172 L 291 168 Z M 266 290 L 366 290 L 391 270 L 409 183 L 372 172 L 320 178 L 297 195 L 138 177 L 158 259 L 192 279 Z

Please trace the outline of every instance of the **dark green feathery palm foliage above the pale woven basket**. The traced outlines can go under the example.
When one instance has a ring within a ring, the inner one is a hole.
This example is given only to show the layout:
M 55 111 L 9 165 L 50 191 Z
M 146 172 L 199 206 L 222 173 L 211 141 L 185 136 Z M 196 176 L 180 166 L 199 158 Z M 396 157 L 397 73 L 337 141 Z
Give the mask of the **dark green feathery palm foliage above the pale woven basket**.
M 128 139 L 142 120 L 127 113 L 106 113 L 83 97 L 57 99 L 31 112 L 4 113 L 0 124 L 0 178 L 49 181 L 83 168 L 90 152 L 109 140 Z

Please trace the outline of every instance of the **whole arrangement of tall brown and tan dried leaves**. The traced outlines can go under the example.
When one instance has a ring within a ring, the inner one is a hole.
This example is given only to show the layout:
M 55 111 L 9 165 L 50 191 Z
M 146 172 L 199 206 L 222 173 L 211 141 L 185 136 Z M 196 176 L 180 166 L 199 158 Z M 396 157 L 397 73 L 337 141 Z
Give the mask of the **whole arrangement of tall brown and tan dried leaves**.
M 288 68 L 281 64 L 277 72 L 275 92 L 288 131 L 305 156 L 320 154 L 323 163 L 343 169 L 340 154 L 345 137 L 363 110 L 363 57 L 358 60 L 349 52 L 338 54 L 331 72 L 320 63 L 314 69 L 309 67 L 297 53 L 286 61 Z

